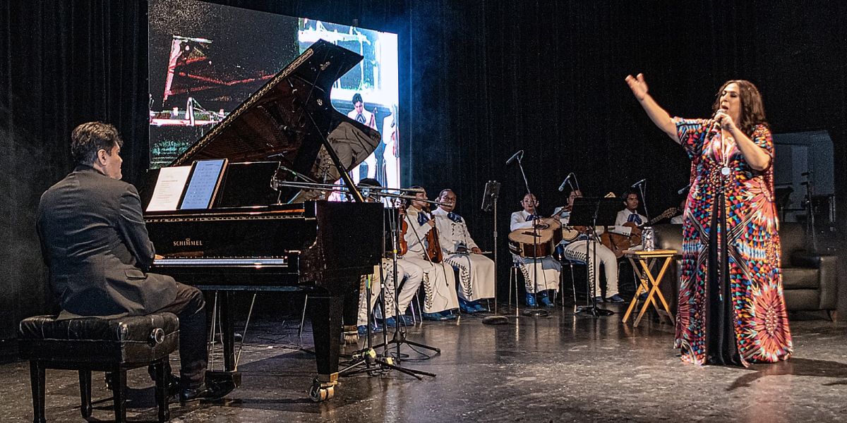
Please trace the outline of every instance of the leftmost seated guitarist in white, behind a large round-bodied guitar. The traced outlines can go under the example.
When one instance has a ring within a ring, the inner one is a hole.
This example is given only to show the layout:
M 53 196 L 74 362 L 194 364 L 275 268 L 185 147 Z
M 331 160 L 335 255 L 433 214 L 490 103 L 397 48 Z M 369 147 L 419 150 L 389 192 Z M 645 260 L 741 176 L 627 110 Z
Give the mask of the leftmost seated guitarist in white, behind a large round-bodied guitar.
M 524 195 L 521 206 L 523 206 L 522 211 L 512 213 L 512 222 L 509 225 L 509 230 L 511 231 L 521 228 L 533 228 L 534 221 L 540 219 L 540 216 L 535 211 L 535 207 L 538 206 L 535 195 Z M 512 253 L 512 260 L 521 267 L 521 273 L 523 273 L 523 281 L 527 291 L 527 305 L 536 305 L 535 295 L 538 294 L 541 304 L 552 307 L 554 304 L 550 297 L 552 294 L 553 299 L 556 299 L 562 264 L 553 258 L 552 255 L 545 257 L 522 257 Z

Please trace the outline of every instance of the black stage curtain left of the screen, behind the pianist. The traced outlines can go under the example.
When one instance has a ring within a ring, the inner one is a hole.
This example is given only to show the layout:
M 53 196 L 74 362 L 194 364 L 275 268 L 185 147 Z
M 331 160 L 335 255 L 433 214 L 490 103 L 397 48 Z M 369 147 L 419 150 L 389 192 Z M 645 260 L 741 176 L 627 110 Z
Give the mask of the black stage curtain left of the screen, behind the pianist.
M 71 129 L 114 124 L 126 140 L 126 179 L 147 168 L 147 6 L 13 0 L 0 14 L 5 339 L 21 318 L 53 310 L 35 213 L 42 192 L 72 168 Z

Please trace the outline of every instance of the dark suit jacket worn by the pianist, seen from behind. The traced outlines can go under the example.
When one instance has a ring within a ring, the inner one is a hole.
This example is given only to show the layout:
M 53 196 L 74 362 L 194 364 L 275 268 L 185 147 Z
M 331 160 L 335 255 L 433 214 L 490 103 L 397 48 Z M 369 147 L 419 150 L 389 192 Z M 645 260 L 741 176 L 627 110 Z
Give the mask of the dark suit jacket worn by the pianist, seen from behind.
M 78 166 L 42 195 L 36 225 L 64 317 L 144 315 L 174 301 L 174 278 L 146 272 L 154 250 L 131 184 Z

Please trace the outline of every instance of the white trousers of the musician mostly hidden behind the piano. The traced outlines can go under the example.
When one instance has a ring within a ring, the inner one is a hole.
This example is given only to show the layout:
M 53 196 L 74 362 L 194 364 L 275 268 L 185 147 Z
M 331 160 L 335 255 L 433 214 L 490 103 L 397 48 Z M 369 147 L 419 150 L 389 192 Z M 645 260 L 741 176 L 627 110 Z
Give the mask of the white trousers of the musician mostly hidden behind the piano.
M 362 281 L 364 283 L 368 283 L 368 279 L 371 281 L 371 298 L 370 298 L 370 306 L 371 310 L 374 310 L 374 305 L 376 304 L 376 300 L 379 298 L 379 266 L 374 266 L 374 273 L 368 275 L 368 277 L 363 277 Z M 382 259 L 382 273 L 381 277 L 385 281 L 385 310 L 382 310 L 382 316 L 384 318 L 394 317 L 394 293 L 396 284 L 394 283 L 394 262 L 389 259 Z M 400 294 L 397 295 L 397 306 L 400 310 L 400 314 L 406 312 L 406 308 L 409 306 L 409 303 L 412 302 L 412 297 L 415 296 L 415 293 L 418 292 L 418 288 L 421 286 L 421 281 L 424 279 L 424 271 L 419 267 L 415 266 L 412 263 L 404 262 L 402 260 L 397 260 L 397 277 L 400 279 L 402 283 L 402 287 L 400 288 Z M 405 279 L 405 281 L 403 281 Z M 368 291 L 365 289 L 364 285 L 359 289 L 359 316 L 357 318 L 356 325 L 364 326 L 368 324 L 368 305 L 365 303 L 365 295 L 367 295 Z

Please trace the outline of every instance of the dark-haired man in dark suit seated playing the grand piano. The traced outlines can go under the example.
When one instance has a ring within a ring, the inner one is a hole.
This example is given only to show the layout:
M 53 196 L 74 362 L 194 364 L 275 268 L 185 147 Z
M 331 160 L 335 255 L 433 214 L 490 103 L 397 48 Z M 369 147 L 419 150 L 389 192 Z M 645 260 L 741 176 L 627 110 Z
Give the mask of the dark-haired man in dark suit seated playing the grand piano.
M 59 318 L 180 318 L 180 399 L 221 397 L 202 386 L 207 366 L 206 312 L 201 292 L 173 277 L 147 273 L 154 250 L 136 187 L 120 181 L 124 141 L 110 124 L 81 124 L 71 133 L 76 168 L 38 205 L 36 225 Z

